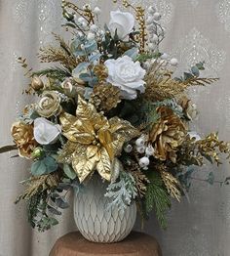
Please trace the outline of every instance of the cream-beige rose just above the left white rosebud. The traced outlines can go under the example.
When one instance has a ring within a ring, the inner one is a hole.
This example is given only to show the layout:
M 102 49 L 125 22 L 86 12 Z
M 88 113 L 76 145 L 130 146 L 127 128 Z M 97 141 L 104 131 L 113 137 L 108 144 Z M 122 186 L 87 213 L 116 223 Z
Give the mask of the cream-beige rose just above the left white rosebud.
M 42 94 L 42 99 L 38 103 L 36 110 L 41 116 L 48 118 L 60 113 L 61 107 L 59 103 L 58 94 L 53 91 L 47 91 Z

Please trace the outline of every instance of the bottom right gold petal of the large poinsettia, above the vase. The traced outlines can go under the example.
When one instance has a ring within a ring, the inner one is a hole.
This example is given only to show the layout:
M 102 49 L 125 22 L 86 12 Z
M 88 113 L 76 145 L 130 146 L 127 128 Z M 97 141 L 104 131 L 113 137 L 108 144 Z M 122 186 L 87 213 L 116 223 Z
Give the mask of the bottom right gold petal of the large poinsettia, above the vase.
M 96 164 L 99 175 L 107 181 L 111 180 L 111 161 L 106 149 L 100 149 L 100 160 Z

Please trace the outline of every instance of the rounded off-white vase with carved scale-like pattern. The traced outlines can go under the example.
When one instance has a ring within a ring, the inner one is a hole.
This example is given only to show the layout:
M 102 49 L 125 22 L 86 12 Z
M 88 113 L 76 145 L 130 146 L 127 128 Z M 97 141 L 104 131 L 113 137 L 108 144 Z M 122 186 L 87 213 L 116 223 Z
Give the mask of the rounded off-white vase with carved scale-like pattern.
M 123 240 L 134 228 L 136 206 L 125 211 L 107 209 L 107 183 L 99 177 L 74 195 L 74 219 L 80 233 L 90 241 L 111 243 Z

